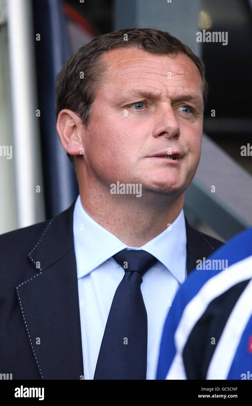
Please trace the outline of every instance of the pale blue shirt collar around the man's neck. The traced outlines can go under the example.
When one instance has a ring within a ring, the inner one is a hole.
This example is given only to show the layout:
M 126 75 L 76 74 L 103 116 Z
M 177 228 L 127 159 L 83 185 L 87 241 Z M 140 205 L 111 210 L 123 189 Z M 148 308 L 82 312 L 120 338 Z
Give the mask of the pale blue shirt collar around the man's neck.
M 73 212 L 73 233 L 78 279 L 92 272 L 124 248 L 142 249 L 154 255 L 179 283 L 186 276 L 186 224 L 184 211 L 162 233 L 140 248 L 129 247 L 98 224 L 84 210 L 80 195 Z

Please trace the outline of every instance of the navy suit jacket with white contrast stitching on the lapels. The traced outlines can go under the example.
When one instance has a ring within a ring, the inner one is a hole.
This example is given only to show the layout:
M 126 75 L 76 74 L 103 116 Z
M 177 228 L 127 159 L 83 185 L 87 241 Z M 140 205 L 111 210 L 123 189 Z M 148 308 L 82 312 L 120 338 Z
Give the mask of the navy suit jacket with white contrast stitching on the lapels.
M 52 220 L 0 236 L 0 373 L 81 379 L 75 201 Z M 222 244 L 186 220 L 187 270 Z

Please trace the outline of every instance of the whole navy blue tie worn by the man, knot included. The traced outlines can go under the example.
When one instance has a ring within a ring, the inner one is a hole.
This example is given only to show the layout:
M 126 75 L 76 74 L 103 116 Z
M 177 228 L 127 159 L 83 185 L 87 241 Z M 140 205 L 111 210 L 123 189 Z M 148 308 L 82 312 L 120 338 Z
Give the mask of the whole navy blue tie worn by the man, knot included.
M 146 379 L 147 312 L 141 283 L 158 260 L 146 251 L 128 249 L 113 258 L 125 275 L 111 304 L 94 379 Z

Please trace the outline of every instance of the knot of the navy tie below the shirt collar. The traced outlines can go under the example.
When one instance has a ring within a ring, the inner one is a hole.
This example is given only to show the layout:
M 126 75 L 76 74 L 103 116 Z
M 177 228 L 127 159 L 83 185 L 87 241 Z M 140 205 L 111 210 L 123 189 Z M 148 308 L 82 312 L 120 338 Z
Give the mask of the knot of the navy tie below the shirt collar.
M 143 250 L 127 250 L 126 248 L 113 255 L 115 261 L 125 272 L 137 271 L 143 276 L 158 260 Z

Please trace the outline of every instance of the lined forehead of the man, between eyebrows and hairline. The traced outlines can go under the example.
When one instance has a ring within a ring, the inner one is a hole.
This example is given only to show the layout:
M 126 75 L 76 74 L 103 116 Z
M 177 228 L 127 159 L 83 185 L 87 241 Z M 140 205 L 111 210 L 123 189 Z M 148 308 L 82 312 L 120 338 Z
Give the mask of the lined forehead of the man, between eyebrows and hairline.
M 105 90 L 119 93 L 131 86 L 146 86 L 162 93 L 187 90 L 202 96 L 198 68 L 185 54 L 154 54 L 138 48 L 118 48 L 103 54 Z M 112 94 L 112 93 L 111 93 Z

